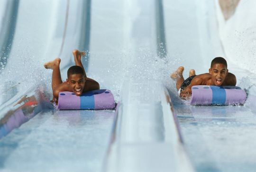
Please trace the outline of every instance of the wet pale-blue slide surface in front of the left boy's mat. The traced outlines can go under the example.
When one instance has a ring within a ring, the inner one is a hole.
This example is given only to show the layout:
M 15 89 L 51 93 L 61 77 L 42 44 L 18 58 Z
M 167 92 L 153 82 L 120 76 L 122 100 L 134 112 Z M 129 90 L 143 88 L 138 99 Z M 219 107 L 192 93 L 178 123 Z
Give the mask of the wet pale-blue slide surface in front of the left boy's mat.
M 42 111 L 0 140 L 0 172 L 101 171 L 113 110 Z

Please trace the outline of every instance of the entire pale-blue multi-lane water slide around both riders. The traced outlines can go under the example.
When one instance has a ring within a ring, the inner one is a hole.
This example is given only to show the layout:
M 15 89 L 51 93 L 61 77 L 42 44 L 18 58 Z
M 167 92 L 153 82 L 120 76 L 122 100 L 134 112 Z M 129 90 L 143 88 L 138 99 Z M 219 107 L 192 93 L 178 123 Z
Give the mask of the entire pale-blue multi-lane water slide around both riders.
M 254 86 L 245 106 L 192 107 L 169 73 L 207 72 L 227 56 L 213 0 L 2 0 L 0 171 L 240 172 L 255 169 Z M 51 70 L 62 79 L 83 58 L 115 110 L 54 110 Z M 255 74 L 227 56 L 238 86 Z

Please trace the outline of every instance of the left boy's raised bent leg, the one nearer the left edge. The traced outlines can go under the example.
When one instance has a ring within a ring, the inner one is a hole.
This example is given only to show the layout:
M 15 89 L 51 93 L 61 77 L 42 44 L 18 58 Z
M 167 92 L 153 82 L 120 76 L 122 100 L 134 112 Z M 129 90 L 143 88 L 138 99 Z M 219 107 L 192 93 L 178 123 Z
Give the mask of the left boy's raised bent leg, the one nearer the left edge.
M 60 58 L 55 58 L 55 60 L 47 62 L 44 64 L 46 69 L 53 69 L 52 75 L 52 90 L 62 83 L 61 73 L 60 73 Z

